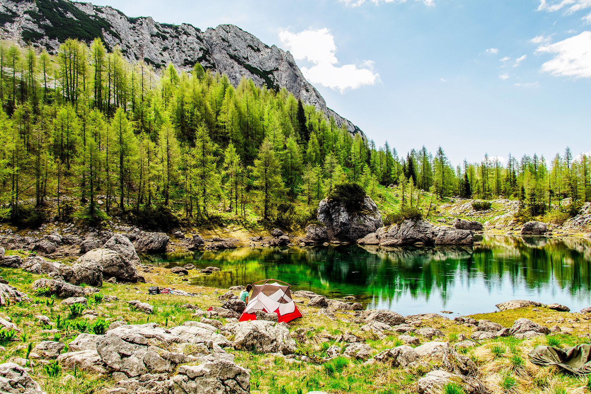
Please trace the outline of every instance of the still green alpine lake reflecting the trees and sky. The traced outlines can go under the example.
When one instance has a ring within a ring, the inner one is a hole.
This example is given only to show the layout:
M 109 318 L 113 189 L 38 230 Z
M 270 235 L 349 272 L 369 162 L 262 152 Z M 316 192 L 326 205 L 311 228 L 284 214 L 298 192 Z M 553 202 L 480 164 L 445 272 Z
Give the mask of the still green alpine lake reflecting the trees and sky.
M 314 246 L 239 248 L 220 252 L 142 256 L 173 268 L 192 263 L 220 271 L 192 276 L 189 284 L 227 289 L 279 279 L 291 291 L 327 298 L 353 295 L 368 309 L 402 315 L 495 311 L 511 299 L 591 306 L 591 242 L 586 239 L 483 236 L 480 245 L 456 248 Z M 450 316 L 453 316 L 450 315 Z

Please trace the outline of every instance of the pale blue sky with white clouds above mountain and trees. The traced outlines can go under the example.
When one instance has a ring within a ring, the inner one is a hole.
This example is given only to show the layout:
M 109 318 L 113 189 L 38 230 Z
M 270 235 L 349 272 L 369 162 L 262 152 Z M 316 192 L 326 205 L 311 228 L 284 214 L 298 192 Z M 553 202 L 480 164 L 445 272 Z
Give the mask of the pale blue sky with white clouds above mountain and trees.
M 93 2 L 291 50 L 330 108 L 400 154 L 591 151 L 591 0 Z

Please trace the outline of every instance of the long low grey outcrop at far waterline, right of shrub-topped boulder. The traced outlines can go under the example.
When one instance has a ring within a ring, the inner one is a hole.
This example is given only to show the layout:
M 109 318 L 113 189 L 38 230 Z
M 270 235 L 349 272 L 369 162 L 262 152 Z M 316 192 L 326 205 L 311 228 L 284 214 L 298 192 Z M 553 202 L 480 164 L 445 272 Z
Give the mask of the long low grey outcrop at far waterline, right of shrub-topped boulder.
M 361 245 L 394 247 L 418 242 L 424 245 L 472 245 L 474 240 L 472 230 L 433 226 L 426 220 L 404 220 L 400 224 L 380 227 L 374 235 L 368 234 L 357 242 Z

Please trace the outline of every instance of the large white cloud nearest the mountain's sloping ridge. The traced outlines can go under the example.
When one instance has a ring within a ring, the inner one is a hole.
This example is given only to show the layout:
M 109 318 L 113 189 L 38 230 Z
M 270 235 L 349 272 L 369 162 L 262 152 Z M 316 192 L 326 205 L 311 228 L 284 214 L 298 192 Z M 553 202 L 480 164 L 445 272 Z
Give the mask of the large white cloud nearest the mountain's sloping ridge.
M 361 68 L 355 64 L 345 64 L 337 67 L 335 56 L 337 50 L 335 40 L 327 28 L 321 30 L 304 30 L 292 33 L 284 30 L 279 33 L 281 42 L 289 48 L 296 59 L 307 59 L 316 64 L 308 69 L 300 67 L 301 72 L 311 83 L 320 83 L 330 89 L 357 89 L 362 85 L 372 85 L 379 80 L 379 74 L 374 73 L 374 61 L 364 60 Z

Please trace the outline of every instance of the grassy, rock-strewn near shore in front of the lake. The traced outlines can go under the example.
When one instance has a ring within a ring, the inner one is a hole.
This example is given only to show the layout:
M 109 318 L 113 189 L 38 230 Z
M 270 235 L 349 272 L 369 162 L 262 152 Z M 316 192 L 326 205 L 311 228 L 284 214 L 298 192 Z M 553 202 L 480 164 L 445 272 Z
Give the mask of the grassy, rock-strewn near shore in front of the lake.
M 591 308 L 573 313 L 550 300 L 505 301 L 495 312 L 452 318 L 363 310 L 352 296 L 295 290 L 302 318 L 286 324 L 261 314 L 238 323 L 241 286 L 190 286 L 184 279 L 204 273 L 142 264 L 118 235 L 71 266 L 24 253 L 3 256 L 1 265 L 0 379 L 13 382 L 8 393 L 64 386 L 121 394 L 282 387 L 436 394 L 450 384 L 485 393 L 501 390 L 506 376 L 522 392 L 545 392 L 580 381 L 532 364 L 528 353 L 590 339 Z

